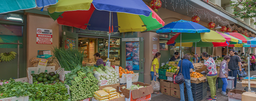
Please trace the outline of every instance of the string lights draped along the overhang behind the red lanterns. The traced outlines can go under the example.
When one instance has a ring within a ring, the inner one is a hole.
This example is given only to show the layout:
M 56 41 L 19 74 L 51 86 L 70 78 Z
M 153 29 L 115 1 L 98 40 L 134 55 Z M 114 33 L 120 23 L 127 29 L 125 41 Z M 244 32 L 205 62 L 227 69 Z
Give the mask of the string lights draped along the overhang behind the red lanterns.
M 178 2 L 178 3 L 177 3 Z M 196 8 L 194 6 L 192 6 L 190 3 L 188 3 L 186 0 L 176 0 L 175 3 L 176 3 L 176 7 L 175 9 L 177 8 L 177 4 L 179 4 L 179 2 L 181 2 L 181 9 L 184 9 L 184 2 L 186 2 L 185 6 L 187 6 L 187 15 L 188 15 L 188 12 L 193 12 L 193 16 L 194 15 L 197 15 L 201 18 L 201 15 L 204 15 L 204 19 L 207 17 L 209 22 L 218 22 L 220 23 L 222 26 L 227 26 L 229 27 L 230 29 L 232 30 L 236 30 L 238 32 L 242 32 L 242 33 L 247 33 L 249 36 L 252 36 L 252 37 L 255 37 L 256 35 L 253 34 L 252 32 L 248 32 L 247 30 L 243 30 L 243 28 L 238 28 L 236 25 L 233 25 L 232 27 L 230 26 L 229 24 L 229 21 L 223 21 L 220 19 L 219 16 L 213 16 L 211 15 L 210 12 L 208 12 L 206 9 L 199 9 L 199 8 Z M 166 3 L 166 0 L 165 0 L 165 3 Z M 182 4 L 183 3 L 183 4 Z M 174 0 L 171 0 L 171 4 L 172 4 L 172 8 L 173 10 L 175 11 L 174 9 Z M 166 5 L 165 5 L 166 7 Z M 189 7 L 189 9 L 188 9 Z

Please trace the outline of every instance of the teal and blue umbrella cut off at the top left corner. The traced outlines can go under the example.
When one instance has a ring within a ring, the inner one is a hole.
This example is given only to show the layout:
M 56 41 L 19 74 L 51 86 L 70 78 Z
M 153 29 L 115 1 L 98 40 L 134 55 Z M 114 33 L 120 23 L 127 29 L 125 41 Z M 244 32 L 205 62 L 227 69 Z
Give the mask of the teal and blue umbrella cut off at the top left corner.
M 58 0 L 1 0 L 0 14 L 54 5 Z M 41 9 L 43 11 L 43 8 Z

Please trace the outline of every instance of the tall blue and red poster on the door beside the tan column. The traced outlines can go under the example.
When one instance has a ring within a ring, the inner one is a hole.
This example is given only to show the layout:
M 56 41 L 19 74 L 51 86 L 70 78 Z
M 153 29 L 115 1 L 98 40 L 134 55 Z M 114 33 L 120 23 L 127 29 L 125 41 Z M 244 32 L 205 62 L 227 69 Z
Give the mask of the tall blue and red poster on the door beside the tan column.
M 127 70 L 139 70 L 139 42 L 125 43 L 125 56 Z

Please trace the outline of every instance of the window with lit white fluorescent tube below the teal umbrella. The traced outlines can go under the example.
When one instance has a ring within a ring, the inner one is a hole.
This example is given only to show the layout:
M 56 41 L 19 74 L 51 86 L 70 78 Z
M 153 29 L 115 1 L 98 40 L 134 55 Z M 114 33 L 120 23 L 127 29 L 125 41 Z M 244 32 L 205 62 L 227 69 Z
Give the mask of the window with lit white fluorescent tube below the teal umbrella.
M 23 23 L 23 15 L 12 13 L 0 14 L 0 21 Z

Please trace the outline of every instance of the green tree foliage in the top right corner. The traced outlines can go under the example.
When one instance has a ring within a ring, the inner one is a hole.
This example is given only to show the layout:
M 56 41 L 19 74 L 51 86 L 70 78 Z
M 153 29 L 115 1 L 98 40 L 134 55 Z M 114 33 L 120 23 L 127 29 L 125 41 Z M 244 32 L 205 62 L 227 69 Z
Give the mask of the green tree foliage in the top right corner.
M 236 14 L 234 18 L 255 18 L 256 17 L 256 0 L 233 0 L 230 2 L 233 14 Z M 237 10 L 238 6 L 243 6 L 241 9 Z M 254 23 L 256 25 L 256 23 Z

